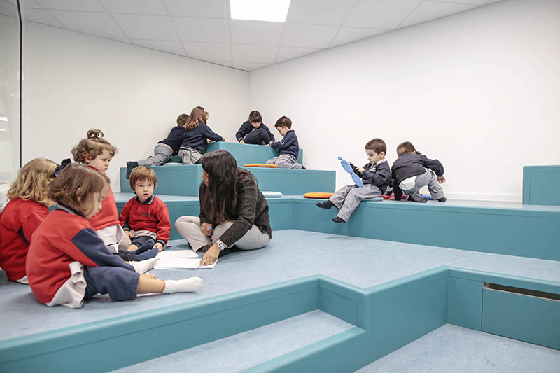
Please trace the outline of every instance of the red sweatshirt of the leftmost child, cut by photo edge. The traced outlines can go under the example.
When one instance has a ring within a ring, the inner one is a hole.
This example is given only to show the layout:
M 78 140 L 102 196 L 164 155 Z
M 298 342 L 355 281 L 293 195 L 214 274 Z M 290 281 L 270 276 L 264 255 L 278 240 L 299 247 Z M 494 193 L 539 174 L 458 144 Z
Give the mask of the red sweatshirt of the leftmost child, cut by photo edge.
M 0 213 L 0 267 L 11 281 L 25 276 L 31 236 L 47 215 L 47 206 L 20 198 L 10 199 Z

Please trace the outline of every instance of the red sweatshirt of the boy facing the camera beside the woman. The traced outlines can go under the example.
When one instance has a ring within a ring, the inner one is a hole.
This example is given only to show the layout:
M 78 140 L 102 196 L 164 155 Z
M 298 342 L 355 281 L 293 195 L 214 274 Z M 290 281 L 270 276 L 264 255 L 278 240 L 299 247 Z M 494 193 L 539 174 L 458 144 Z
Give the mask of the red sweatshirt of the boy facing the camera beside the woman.
M 149 230 L 158 234 L 157 241 L 165 246 L 171 232 L 169 211 L 165 203 L 155 197 L 141 203 L 138 197 L 131 198 L 120 211 L 120 225 L 124 230 Z

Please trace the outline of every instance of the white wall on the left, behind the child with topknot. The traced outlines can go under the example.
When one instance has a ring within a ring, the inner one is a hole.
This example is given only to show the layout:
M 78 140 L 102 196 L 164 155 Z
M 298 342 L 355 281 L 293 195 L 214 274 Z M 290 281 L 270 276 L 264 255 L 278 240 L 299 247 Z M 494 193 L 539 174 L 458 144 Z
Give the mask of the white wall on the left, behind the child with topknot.
M 248 73 L 228 67 L 26 23 L 22 162 L 59 162 L 90 128 L 118 148 L 107 176 L 153 155 L 181 113 L 203 106 L 209 125 L 235 139 L 248 115 Z M 128 190 L 126 190 L 128 192 Z

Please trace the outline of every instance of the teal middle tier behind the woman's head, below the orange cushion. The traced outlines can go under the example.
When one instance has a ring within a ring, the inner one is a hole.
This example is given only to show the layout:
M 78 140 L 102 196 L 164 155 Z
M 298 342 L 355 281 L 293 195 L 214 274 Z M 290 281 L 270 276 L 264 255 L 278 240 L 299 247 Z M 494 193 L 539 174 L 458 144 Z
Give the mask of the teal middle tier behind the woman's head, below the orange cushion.
M 155 193 L 158 195 L 197 196 L 202 179 L 199 164 L 168 163 L 151 167 L 158 176 Z M 335 171 L 317 169 L 268 169 L 241 167 L 251 171 L 257 178 L 260 190 L 281 192 L 283 195 L 303 195 L 307 192 L 334 192 Z M 130 182 L 125 178 L 126 168 L 120 169 L 120 190 L 130 191 Z

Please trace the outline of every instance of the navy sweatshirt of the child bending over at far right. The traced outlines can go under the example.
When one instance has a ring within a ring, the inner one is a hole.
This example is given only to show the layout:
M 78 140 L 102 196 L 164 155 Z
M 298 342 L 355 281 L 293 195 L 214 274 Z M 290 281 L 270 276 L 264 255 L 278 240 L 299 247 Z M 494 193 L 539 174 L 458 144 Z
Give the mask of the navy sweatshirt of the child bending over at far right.
M 423 174 L 426 172 L 426 168 L 434 171 L 437 176 L 443 176 L 443 164 L 438 160 L 430 160 L 426 155 L 405 153 L 395 160 L 391 173 L 393 174 L 393 192 L 397 200 L 400 200 L 402 195 L 402 190 L 398 186 L 400 182 Z

